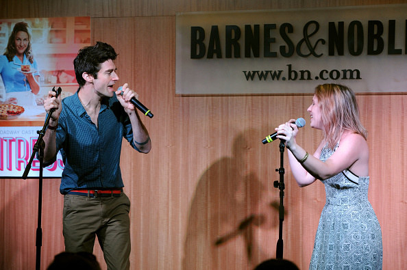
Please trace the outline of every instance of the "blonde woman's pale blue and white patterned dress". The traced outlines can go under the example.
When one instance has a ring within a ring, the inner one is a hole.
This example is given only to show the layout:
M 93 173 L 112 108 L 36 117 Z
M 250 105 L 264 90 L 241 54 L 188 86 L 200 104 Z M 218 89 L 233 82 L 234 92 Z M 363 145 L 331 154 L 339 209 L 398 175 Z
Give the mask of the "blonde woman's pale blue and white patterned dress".
M 325 146 L 321 161 L 333 152 Z M 310 270 L 382 269 L 382 230 L 367 200 L 369 176 L 358 177 L 345 170 L 322 183 L 326 204 L 319 219 Z

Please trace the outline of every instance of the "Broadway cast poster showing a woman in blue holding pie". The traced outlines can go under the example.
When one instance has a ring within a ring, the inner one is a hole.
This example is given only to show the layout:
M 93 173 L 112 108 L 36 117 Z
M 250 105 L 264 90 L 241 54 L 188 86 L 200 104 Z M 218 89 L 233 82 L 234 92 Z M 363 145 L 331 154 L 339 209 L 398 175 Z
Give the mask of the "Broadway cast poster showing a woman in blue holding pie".
M 23 175 L 45 122 L 45 96 L 53 87 L 62 98 L 77 91 L 73 59 L 89 45 L 90 17 L 0 19 L 0 177 Z M 38 165 L 34 159 L 29 177 L 39 176 Z M 43 176 L 62 169 L 58 154 Z

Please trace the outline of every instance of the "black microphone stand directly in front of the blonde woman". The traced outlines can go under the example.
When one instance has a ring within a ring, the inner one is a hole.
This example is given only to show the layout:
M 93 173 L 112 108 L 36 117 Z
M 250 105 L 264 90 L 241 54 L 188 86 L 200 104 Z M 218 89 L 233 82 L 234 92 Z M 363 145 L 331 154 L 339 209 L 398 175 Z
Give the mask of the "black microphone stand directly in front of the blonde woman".
M 283 254 L 283 239 L 282 239 L 282 224 L 284 221 L 284 204 L 283 204 L 283 198 L 284 198 L 284 148 L 285 148 L 285 141 L 284 139 L 280 139 L 280 169 L 275 169 L 275 172 L 278 172 L 280 174 L 280 182 L 279 181 L 274 181 L 273 185 L 275 188 L 280 189 L 280 207 L 278 208 L 278 213 L 279 213 L 279 219 L 280 219 L 280 224 L 279 224 L 279 230 L 278 230 L 278 241 L 277 241 L 277 249 L 276 249 L 276 258 L 277 259 L 282 259 L 282 254 Z

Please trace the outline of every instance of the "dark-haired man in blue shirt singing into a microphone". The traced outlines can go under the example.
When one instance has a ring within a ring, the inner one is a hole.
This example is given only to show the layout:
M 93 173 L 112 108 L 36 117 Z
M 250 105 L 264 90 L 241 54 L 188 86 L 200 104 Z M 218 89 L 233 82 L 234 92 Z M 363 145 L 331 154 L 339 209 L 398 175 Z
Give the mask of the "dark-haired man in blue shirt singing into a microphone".
M 138 152 L 151 150 L 149 134 L 130 102 L 136 92 L 123 85 L 114 91 L 116 52 L 97 42 L 74 60 L 79 89 L 61 100 L 50 91 L 51 109 L 44 136 L 44 165 L 64 161 L 60 193 L 64 195 L 63 233 L 66 252 L 93 252 L 99 240 L 108 269 L 130 269 L 130 200 L 123 193 L 120 170 L 124 137 Z

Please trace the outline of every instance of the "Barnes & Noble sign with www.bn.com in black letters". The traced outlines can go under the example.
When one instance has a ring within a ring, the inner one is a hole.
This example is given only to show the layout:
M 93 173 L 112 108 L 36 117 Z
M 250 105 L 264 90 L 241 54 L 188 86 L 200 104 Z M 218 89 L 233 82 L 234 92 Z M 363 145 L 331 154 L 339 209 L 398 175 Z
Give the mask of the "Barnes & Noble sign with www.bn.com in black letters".
M 177 14 L 177 94 L 407 92 L 407 5 Z

